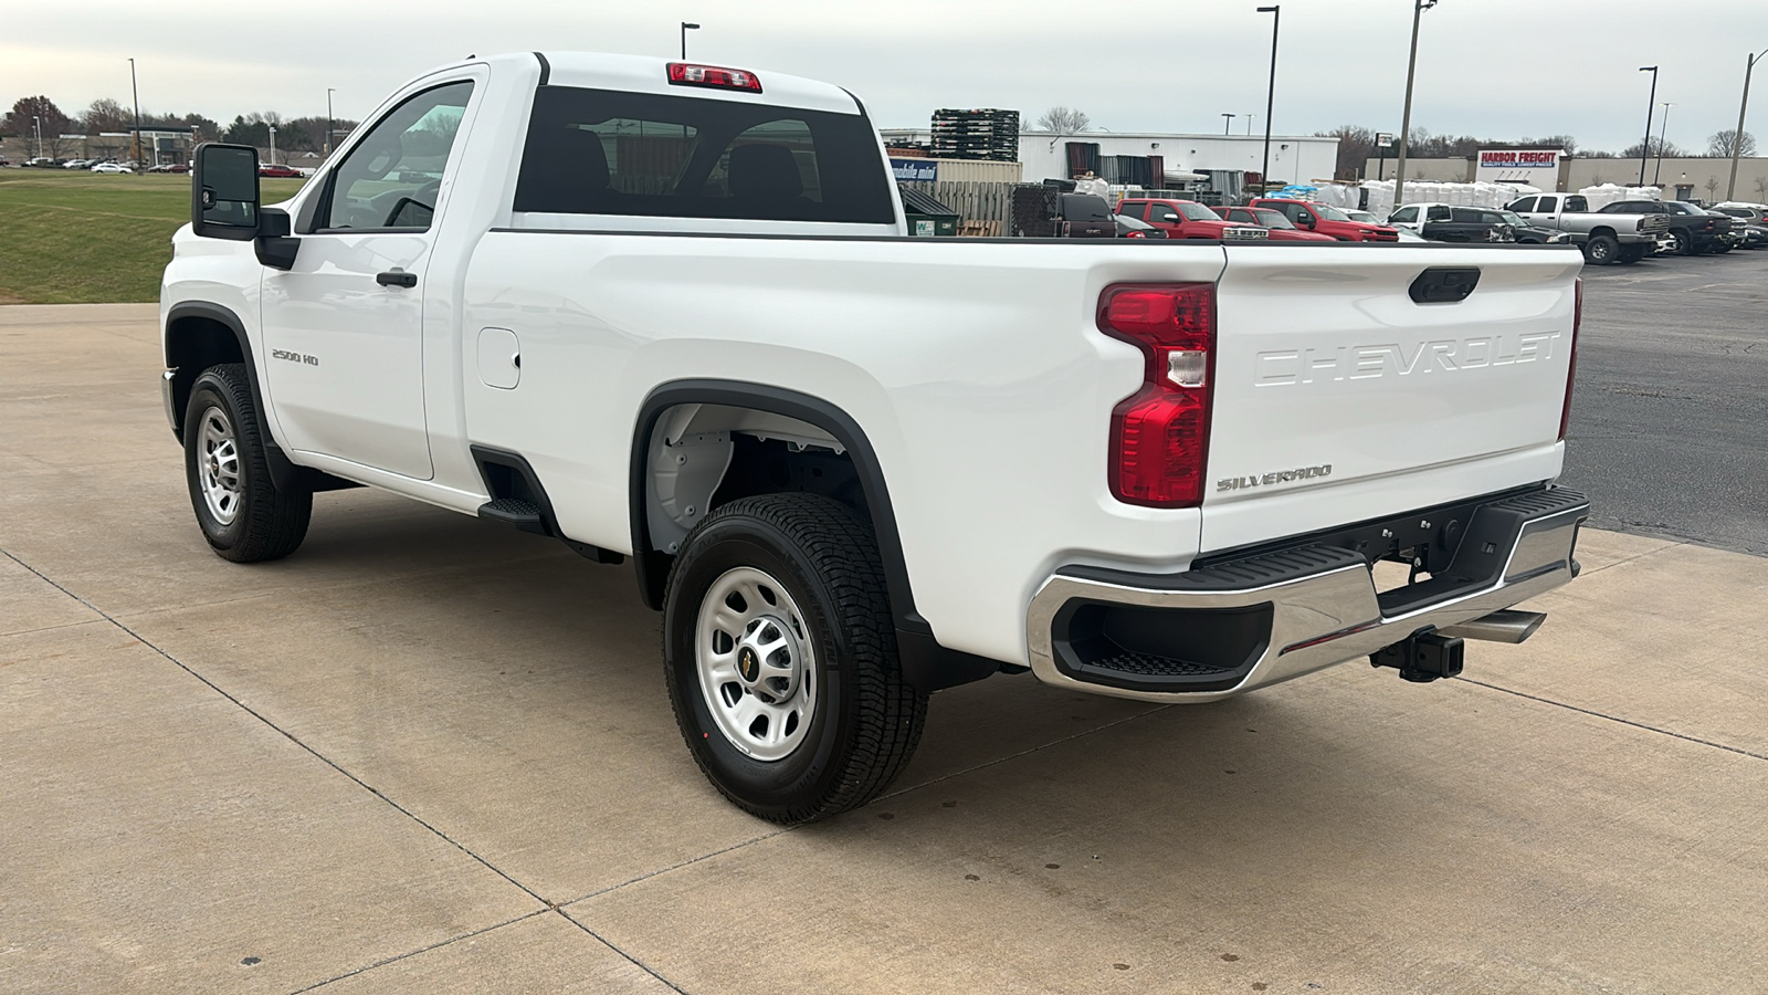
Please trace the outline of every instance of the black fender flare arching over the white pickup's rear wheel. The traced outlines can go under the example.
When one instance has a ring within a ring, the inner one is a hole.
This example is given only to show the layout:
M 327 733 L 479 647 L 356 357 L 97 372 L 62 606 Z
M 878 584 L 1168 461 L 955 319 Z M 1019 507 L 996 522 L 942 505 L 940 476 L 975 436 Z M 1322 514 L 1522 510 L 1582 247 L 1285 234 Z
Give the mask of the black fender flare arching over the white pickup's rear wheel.
M 859 421 L 824 398 L 769 384 L 714 379 L 670 381 L 654 388 L 638 407 L 638 420 L 633 427 L 629 508 L 633 565 L 638 574 L 640 595 L 647 605 L 656 611 L 663 609 L 663 588 L 674 561 L 667 552 L 651 547 L 651 531 L 645 524 L 647 453 L 658 420 L 665 411 L 682 404 L 766 411 L 806 421 L 833 436 L 854 460 L 866 506 L 872 512 L 872 529 L 884 559 L 884 588 L 895 620 L 903 678 L 923 694 L 930 694 L 944 687 L 981 680 L 1001 669 L 999 660 L 941 646 L 934 627 L 916 611 L 909 565 L 902 552 L 902 536 L 896 529 L 889 487 L 884 482 L 884 467 Z

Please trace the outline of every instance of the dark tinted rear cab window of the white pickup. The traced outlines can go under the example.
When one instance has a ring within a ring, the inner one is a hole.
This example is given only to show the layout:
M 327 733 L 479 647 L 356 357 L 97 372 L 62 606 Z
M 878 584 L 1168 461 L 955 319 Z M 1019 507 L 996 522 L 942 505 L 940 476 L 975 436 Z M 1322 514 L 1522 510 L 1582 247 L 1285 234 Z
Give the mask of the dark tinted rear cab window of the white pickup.
M 539 87 L 514 209 L 536 214 L 893 225 L 859 113 Z

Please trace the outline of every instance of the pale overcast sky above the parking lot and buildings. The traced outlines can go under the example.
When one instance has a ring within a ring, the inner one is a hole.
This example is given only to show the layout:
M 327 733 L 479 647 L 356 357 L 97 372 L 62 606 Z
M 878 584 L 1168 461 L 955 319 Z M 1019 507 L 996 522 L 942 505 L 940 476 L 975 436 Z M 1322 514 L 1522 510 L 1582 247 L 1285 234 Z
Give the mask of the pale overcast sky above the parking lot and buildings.
M 1116 131 L 1215 133 L 1257 113 L 1271 18 L 1264 0 L 292 0 L 12 4 L 0 99 L 46 94 L 74 115 L 95 97 L 200 112 L 223 124 L 276 110 L 361 119 L 400 81 L 469 53 L 585 50 L 688 55 L 840 83 L 880 127 L 934 108 L 1052 104 Z M 1411 0 L 1282 4 L 1275 129 L 1398 131 Z M 1754 48 L 1750 48 L 1754 46 Z M 1749 51 L 1768 48 L 1768 0 L 1441 0 L 1423 16 L 1413 124 L 1430 133 L 1575 135 L 1618 150 L 1644 131 L 1650 74 L 1673 101 L 1669 140 L 1694 150 L 1736 126 Z M 1768 76 L 1768 66 L 1763 73 Z M 1768 83 L 1749 131 L 1768 138 Z M 1245 119 L 1234 131 L 1245 131 Z M 1653 133 L 1657 127 L 1653 127 Z

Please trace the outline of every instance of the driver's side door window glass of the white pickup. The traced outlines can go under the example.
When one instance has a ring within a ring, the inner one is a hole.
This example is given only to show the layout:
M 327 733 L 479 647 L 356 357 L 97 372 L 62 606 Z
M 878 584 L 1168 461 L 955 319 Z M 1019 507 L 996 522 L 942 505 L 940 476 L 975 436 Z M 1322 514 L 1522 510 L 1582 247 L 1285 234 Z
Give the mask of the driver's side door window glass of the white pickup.
M 332 172 L 315 228 L 428 230 L 469 97 L 472 81 L 447 83 L 375 122 Z

